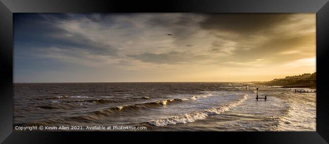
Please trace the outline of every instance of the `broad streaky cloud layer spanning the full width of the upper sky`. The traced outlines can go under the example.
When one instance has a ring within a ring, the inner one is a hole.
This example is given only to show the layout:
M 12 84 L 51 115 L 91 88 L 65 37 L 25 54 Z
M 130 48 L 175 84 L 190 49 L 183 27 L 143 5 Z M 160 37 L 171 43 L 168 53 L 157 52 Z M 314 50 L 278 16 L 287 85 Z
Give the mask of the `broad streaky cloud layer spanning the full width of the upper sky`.
M 94 55 L 111 59 L 128 56 L 142 62 L 178 64 L 189 62 L 190 56 L 207 55 L 208 59 L 241 62 L 274 57 L 288 50 L 308 51 L 315 40 L 314 21 L 307 20 L 314 16 L 309 15 L 156 13 L 31 17 L 39 22 L 30 19 L 35 25 L 24 29 L 18 26 L 18 35 L 26 34 L 26 41 L 32 41 L 38 49 L 79 49 L 85 54 L 79 57 L 86 59 Z

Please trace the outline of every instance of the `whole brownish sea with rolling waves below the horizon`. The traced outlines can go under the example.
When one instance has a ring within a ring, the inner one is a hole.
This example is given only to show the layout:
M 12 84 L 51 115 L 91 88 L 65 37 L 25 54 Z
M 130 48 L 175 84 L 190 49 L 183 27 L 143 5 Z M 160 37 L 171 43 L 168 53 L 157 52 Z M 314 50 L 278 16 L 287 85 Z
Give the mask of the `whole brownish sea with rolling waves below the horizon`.
M 13 130 L 316 131 L 316 93 L 295 89 L 309 88 L 246 82 L 14 83 Z M 257 101 L 257 94 L 266 101 Z

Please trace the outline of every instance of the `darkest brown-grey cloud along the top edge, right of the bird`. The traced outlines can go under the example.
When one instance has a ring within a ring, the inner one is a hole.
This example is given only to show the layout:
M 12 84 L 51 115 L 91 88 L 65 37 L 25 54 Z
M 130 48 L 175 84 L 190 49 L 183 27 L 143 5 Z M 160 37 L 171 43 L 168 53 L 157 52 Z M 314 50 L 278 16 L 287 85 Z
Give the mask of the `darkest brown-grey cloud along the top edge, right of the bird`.
M 257 34 L 280 25 L 292 16 L 291 14 L 205 14 L 201 28 L 235 32 L 241 35 Z

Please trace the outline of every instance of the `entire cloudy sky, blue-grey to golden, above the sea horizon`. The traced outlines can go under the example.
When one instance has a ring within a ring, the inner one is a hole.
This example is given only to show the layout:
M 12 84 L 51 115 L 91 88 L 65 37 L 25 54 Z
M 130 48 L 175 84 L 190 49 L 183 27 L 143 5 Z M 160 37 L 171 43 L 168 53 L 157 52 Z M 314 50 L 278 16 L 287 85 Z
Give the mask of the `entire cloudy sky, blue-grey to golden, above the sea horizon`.
M 313 73 L 315 16 L 16 13 L 14 82 L 237 82 Z

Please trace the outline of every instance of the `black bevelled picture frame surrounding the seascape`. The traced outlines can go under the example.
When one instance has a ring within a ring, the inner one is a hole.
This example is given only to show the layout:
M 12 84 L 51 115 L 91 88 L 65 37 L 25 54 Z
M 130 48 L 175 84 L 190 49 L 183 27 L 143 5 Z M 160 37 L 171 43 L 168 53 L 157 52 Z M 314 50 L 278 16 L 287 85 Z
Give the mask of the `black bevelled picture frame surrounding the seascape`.
M 92 1 L 0 0 L 0 141 L 59 143 L 71 140 L 114 142 L 171 142 L 172 140 L 248 143 L 327 143 L 329 141 L 329 3 L 328 0 L 208 0 L 208 1 Z M 317 119 L 316 132 L 13 132 L 13 13 L 202 12 L 202 13 L 316 13 Z M 9 136 L 8 136 L 9 135 Z M 8 137 L 7 137 L 8 136 Z M 88 139 L 91 138 L 92 139 Z M 105 136 L 105 137 L 104 137 Z M 7 137 L 7 138 L 6 138 Z M 106 138 L 106 139 L 104 139 Z M 156 141 L 150 138 L 157 138 Z M 140 141 L 142 140 L 142 141 Z

